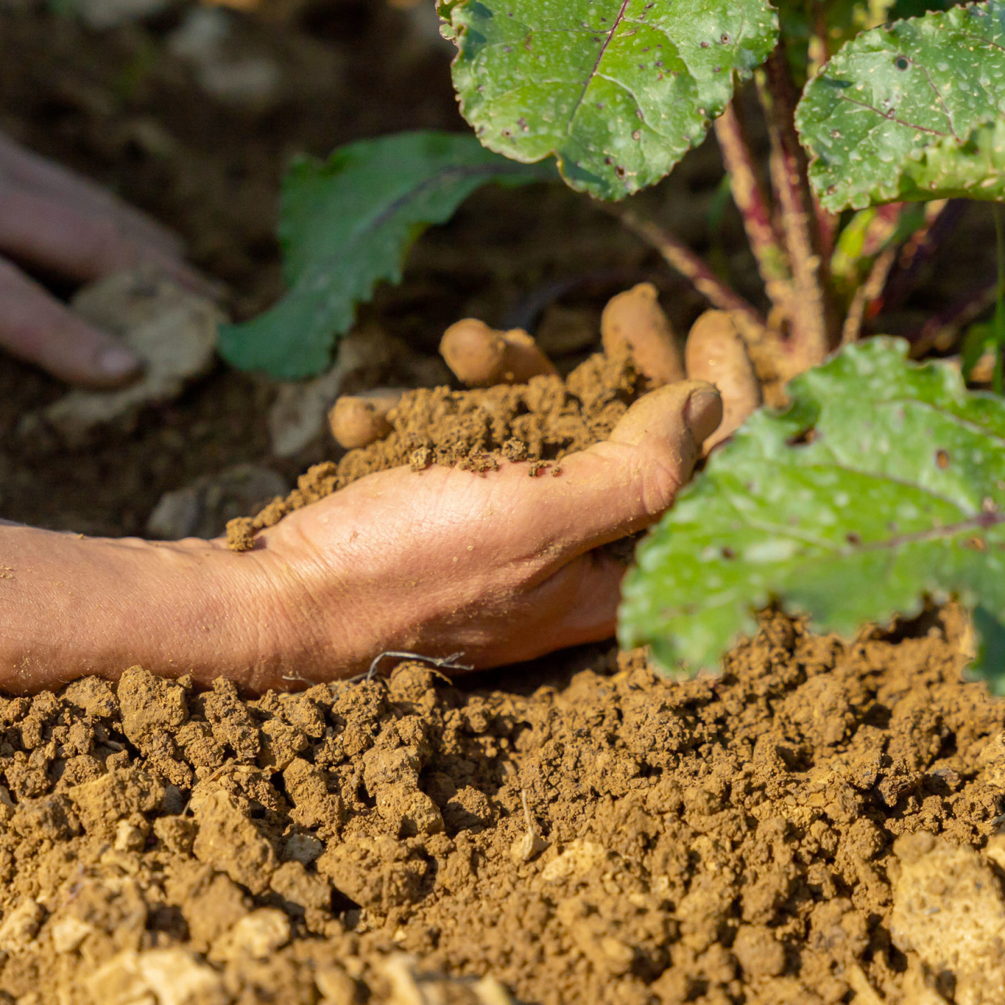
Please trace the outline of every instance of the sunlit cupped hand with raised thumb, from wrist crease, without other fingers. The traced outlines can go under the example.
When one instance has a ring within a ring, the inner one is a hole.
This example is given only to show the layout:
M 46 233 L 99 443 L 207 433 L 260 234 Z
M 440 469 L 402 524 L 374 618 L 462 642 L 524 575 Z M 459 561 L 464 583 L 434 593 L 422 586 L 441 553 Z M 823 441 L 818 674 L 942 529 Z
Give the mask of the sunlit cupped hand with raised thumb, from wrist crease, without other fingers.
M 610 637 L 625 570 L 599 546 L 659 518 L 722 415 L 711 385 L 681 381 L 560 468 L 398 467 L 296 511 L 241 557 L 273 584 L 283 672 L 347 675 L 390 649 L 488 667 Z M 253 689 L 284 682 L 256 673 Z

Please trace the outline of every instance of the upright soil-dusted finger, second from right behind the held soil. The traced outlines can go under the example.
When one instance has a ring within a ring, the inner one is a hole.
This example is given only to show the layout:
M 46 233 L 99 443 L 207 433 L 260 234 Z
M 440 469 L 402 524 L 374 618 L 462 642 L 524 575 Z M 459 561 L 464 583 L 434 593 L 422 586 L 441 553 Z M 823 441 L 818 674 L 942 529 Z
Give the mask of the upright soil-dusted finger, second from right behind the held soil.
M 640 282 L 612 297 L 600 318 L 605 352 L 627 347 L 635 365 L 656 386 L 684 379 L 684 364 L 656 287 Z

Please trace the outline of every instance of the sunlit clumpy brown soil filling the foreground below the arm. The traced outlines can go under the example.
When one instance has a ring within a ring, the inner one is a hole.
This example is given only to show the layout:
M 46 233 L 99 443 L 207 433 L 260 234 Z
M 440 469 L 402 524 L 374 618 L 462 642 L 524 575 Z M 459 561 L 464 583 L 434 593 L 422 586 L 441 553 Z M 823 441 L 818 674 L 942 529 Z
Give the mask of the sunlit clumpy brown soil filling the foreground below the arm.
M 930 620 L 766 615 L 685 683 L 4 700 L 0 999 L 1001 1001 L 1005 703 Z

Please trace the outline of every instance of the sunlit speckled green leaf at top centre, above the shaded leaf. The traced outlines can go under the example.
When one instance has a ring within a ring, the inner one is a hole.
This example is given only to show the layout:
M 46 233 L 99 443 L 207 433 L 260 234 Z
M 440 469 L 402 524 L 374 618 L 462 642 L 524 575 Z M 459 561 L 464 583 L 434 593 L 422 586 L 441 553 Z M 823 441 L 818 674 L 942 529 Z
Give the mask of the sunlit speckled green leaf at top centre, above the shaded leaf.
M 440 0 L 453 83 L 490 150 L 558 158 L 620 199 L 667 175 L 778 37 L 766 0 Z

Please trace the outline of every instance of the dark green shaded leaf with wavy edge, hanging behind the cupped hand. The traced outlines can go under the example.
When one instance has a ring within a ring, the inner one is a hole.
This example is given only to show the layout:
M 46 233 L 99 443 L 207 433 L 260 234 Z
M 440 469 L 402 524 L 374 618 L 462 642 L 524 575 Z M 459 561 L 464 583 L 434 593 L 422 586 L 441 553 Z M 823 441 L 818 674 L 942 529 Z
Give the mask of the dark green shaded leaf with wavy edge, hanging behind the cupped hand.
M 289 291 L 265 314 L 220 331 L 220 353 L 241 370 L 293 380 L 331 363 L 336 337 L 381 279 L 397 282 L 408 249 L 486 182 L 523 185 L 554 172 L 513 164 L 472 136 L 416 132 L 300 158 L 282 187 L 279 238 Z

